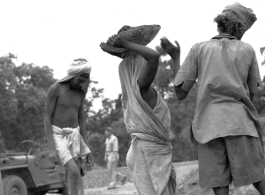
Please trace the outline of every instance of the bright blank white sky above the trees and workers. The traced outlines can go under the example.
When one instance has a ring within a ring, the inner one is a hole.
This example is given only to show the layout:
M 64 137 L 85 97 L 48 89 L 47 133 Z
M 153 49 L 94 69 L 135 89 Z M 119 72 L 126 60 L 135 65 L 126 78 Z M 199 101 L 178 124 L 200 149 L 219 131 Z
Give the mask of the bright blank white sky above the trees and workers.
M 86 58 L 92 65 L 92 78 L 105 89 L 104 96 L 115 99 L 121 92 L 120 59 L 101 50 L 99 44 L 117 33 L 123 25 L 159 24 L 161 30 L 148 45 L 155 48 L 160 38 L 178 40 L 183 61 L 193 44 L 217 34 L 213 18 L 236 0 L 45 0 L 0 1 L 0 56 L 17 55 L 19 63 L 48 65 L 55 78 L 66 75 L 69 63 Z M 262 61 L 265 46 L 265 1 L 238 0 L 257 15 L 257 22 L 242 41 L 251 44 Z M 260 66 L 261 76 L 265 67 Z

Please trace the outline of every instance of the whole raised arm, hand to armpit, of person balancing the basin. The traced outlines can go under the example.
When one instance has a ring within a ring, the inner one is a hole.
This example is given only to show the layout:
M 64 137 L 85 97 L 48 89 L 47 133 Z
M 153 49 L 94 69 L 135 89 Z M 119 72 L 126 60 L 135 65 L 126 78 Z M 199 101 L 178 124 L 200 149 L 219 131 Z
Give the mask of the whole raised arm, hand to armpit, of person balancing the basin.
M 148 91 L 157 73 L 160 57 L 159 53 L 146 46 L 122 39 L 119 35 L 113 35 L 110 37 L 108 43 L 115 47 L 122 47 L 133 51 L 141 55 L 147 61 L 145 69 L 138 78 L 138 85 L 140 87 L 141 93 Z

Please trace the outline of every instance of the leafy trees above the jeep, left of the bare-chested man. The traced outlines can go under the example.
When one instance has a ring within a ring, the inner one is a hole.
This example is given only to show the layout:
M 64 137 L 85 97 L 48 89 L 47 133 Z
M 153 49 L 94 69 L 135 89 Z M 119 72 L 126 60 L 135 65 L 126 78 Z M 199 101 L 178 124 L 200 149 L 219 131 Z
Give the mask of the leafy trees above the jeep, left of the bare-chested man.
M 15 66 L 14 58 L 9 54 L 0 62 L 0 129 L 5 147 L 12 150 L 19 149 L 25 139 L 44 141 L 45 98 L 49 86 L 55 82 L 47 66 L 26 63 Z

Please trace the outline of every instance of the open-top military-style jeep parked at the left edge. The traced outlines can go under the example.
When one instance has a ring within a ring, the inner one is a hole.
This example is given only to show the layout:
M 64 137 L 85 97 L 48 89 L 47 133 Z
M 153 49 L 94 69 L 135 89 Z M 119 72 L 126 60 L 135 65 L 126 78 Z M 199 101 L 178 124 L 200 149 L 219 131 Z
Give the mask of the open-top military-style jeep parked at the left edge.
M 66 170 L 49 159 L 47 144 L 26 140 L 22 144 L 37 145 L 28 152 L 0 153 L 0 194 L 44 195 L 59 193 L 66 195 Z

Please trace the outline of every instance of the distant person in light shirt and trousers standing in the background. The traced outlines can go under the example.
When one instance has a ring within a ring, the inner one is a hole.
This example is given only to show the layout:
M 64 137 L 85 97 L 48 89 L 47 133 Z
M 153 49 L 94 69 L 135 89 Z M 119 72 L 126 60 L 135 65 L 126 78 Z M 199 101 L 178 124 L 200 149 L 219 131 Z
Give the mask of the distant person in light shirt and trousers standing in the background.
M 105 161 L 107 161 L 107 169 L 109 174 L 109 187 L 116 186 L 116 169 L 119 160 L 118 153 L 118 139 L 112 134 L 112 128 L 107 127 L 105 130 L 106 139 L 106 150 L 105 150 Z

